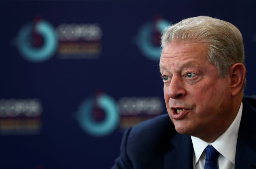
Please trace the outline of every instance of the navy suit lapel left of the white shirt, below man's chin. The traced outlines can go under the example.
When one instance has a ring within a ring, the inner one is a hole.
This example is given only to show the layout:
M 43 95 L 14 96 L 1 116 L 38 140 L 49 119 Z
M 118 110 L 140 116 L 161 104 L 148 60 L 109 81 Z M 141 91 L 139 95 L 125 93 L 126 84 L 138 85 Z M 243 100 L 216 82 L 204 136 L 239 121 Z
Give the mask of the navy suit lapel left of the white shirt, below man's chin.
M 164 169 L 193 168 L 193 144 L 188 135 L 176 134 L 171 140 L 169 151 L 164 155 Z

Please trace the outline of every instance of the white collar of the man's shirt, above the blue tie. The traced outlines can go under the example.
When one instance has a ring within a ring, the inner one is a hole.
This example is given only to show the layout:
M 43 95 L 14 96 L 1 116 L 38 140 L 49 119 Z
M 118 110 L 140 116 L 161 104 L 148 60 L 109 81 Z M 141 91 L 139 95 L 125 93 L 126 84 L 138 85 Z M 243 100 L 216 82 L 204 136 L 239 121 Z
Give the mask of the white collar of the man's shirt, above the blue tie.
M 194 164 L 198 162 L 204 149 L 209 144 L 211 144 L 217 151 L 220 152 L 221 155 L 227 158 L 230 162 L 235 164 L 236 141 L 237 141 L 238 130 L 239 130 L 240 121 L 242 117 L 242 110 L 243 110 L 243 102 L 241 103 L 241 106 L 238 110 L 235 120 L 228 127 L 228 129 L 220 137 L 218 137 L 213 143 L 207 143 L 198 137 L 191 136 L 194 153 L 195 153 L 195 158 L 193 159 Z

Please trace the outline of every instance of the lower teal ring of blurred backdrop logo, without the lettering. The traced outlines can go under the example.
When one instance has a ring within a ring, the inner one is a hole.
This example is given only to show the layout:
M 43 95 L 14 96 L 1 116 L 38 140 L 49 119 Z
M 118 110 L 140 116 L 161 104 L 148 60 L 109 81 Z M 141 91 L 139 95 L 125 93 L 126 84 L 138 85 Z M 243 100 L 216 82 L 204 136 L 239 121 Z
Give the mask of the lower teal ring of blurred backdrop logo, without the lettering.
M 101 121 L 96 121 L 93 117 L 95 104 L 105 113 L 105 117 Z M 118 125 L 118 109 L 115 100 L 106 94 L 101 94 L 96 99 L 89 97 L 80 105 L 76 120 L 81 128 L 92 136 L 106 136 Z

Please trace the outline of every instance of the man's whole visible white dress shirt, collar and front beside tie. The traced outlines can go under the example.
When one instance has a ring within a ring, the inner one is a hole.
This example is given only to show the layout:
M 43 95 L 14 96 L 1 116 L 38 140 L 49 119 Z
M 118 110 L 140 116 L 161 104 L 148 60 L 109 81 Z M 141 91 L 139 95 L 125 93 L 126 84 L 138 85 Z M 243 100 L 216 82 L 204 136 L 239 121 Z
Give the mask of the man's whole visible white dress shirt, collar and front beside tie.
M 194 169 L 204 169 L 205 151 L 208 145 L 212 145 L 220 155 L 217 159 L 219 169 L 234 169 L 236 158 L 236 141 L 238 130 L 240 126 L 241 116 L 243 110 L 243 103 L 238 110 L 235 120 L 229 128 L 213 143 L 207 143 L 198 137 L 191 136 L 194 153 L 193 153 L 193 166 Z

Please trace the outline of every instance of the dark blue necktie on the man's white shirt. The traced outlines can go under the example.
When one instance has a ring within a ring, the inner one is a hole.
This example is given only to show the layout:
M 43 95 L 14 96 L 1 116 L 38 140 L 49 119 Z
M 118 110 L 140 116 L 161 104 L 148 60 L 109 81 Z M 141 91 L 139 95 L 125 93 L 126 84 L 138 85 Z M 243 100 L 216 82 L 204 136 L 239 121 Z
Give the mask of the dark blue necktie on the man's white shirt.
M 204 169 L 218 169 L 217 158 L 219 152 L 212 146 L 208 145 L 205 149 L 206 158 L 204 163 Z

